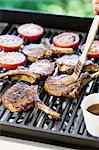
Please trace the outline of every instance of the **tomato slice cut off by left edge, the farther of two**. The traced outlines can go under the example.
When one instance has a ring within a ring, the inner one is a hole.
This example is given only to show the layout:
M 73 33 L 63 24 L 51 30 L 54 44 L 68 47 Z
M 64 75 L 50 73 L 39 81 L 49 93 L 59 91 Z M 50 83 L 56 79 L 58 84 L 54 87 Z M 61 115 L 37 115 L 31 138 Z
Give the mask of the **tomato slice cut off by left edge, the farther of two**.
M 23 39 L 16 35 L 0 35 L 0 49 L 4 51 L 16 51 L 23 44 Z

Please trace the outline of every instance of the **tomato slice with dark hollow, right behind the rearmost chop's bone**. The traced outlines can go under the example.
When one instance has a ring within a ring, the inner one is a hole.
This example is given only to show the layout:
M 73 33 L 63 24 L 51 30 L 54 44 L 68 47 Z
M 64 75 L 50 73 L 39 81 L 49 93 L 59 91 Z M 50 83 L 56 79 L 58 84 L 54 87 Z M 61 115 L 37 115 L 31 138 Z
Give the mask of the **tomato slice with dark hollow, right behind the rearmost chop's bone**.
M 57 47 L 75 48 L 79 43 L 79 35 L 72 32 L 64 32 L 53 37 L 52 42 Z

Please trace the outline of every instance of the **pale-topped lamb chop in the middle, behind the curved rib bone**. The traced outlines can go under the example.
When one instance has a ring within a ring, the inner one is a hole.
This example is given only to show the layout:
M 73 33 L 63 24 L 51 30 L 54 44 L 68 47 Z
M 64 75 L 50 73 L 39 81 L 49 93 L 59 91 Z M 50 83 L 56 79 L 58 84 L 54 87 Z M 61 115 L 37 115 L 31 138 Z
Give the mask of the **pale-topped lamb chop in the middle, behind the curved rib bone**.
M 19 66 L 17 69 L 19 70 L 27 70 L 28 72 L 31 72 L 37 76 L 37 79 L 41 77 L 48 77 L 48 75 L 51 75 L 55 69 L 55 63 L 50 62 L 47 59 L 38 60 L 34 63 L 32 63 L 29 68 Z M 24 77 L 23 75 L 15 75 L 12 78 L 13 80 L 21 80 L 21 81 L 28 81 L 28 78 Z M 31 82 L 30 82 L 31 83 Z

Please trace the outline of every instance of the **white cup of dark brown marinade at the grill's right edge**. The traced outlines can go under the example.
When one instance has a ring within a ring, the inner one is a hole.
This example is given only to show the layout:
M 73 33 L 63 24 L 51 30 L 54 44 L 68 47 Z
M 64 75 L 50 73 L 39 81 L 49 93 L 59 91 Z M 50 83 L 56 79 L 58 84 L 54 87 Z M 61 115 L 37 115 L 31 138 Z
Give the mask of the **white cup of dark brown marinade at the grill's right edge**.
M 99 93 L 86 96 L 82 100 L 81 108 L 87 131 L 99 137 Z

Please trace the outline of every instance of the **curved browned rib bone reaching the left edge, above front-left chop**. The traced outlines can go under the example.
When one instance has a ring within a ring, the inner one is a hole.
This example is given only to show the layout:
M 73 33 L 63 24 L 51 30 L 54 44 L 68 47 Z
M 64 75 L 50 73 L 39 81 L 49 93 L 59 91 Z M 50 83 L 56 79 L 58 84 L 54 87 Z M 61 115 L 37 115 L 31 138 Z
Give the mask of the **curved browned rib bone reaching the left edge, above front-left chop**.
M 9 70 L 4 73 L 0 73 L 0 78 L 5 78 L 11 76 L 14 80 L 27 81 L 30 83 L 35 83 L 39 75 L 33 74 L 27 70 Z

